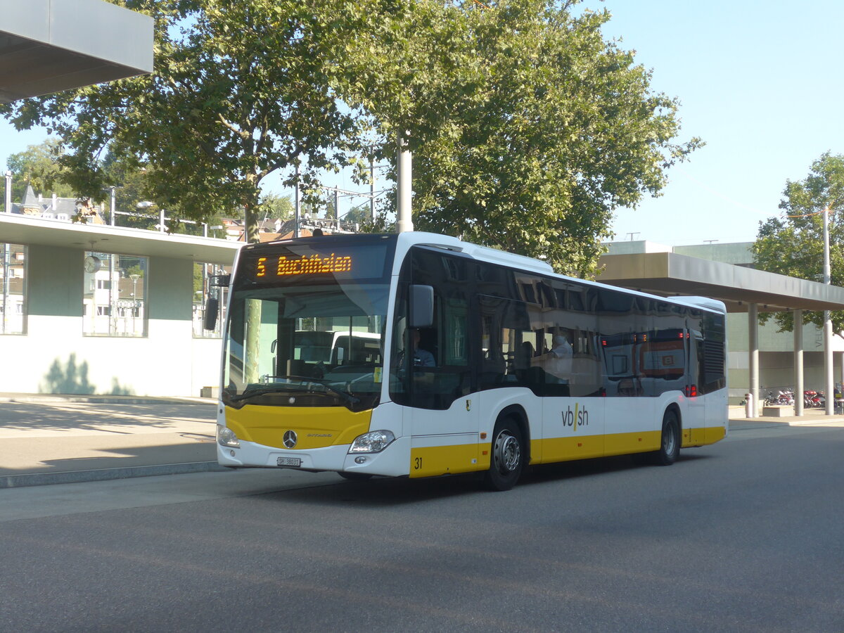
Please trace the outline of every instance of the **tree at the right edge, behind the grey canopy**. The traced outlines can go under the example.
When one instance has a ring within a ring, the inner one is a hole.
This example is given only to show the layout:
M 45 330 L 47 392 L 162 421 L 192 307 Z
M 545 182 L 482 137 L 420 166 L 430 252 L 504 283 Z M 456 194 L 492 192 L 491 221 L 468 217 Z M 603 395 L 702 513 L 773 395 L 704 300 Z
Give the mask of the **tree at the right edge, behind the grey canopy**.
M 822 154 L 812 163 L 809 176 L 802 181 L 786 181 L 782 196 L 782 218 L 760 222 L 753 245 L 757 268 L 822 282 L 823 214 L 830 209 L 831 281 L 844 285 L 844 155 Z M 792 312 L 776 312 L 773 317 L 781 332 L 793 330 Z M 770 318 L 770 313 L 760 314 L 760 322 Z M 806 312 L 803 318 L 823 327 L 823 312 Z M 844 330 L 844 311 L 832 312 L 831 318 L 834 332 Z

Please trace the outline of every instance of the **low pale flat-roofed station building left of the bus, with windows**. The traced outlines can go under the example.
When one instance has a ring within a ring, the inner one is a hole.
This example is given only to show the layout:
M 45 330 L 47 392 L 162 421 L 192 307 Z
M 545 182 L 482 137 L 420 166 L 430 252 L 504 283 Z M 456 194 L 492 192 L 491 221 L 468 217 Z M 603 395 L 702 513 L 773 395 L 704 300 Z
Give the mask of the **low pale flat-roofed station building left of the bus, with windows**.
M 240 244 L 5 213 L 0 235 L 0 391 L 187 397 L 219 383 L 203 298 Z

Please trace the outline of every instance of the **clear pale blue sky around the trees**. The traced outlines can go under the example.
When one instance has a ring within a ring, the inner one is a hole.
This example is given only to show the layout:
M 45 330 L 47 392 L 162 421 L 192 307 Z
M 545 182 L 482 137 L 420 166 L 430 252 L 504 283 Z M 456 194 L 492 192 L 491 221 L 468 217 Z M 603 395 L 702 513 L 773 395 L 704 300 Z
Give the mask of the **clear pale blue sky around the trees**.
M 679 142 L 706 146 L 668 170 L 660 197 L 621 208 L 618 241 L 669 246 L 753 241 L 760 221 L 782 215 L 788 180 L 809 175 L 824 152 L 844 154 L 841 0 L 586 0 L 612 14 L 605 39 L 636 51 L 652 89 L 679 100 Z M 0 119 L 0 157 L 41 143 Z M 3 162 L 0 161 L 0 162 Z M 268 189 L 288 194 L 279 179 Z M 327 184 L 362 191 L 347 174 Z M 376 186 L 381 188 L 381 185 Z M 341 214 L 365 198 L 344 199 Z

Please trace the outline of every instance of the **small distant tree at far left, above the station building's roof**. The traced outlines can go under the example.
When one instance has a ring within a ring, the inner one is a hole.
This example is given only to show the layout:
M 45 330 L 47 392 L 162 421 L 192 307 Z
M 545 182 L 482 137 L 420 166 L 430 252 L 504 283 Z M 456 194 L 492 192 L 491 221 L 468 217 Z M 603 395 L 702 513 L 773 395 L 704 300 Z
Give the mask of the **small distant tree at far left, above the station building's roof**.
M 51 192 L 58 197 L 76 197 L 66 181 L 67 174 L 59 165 L 61 155 L 62 141 L 58 138 L 47 138 L 44 143 L 30 145 L 23 152 L 10 154 L 6 164 L 14 175 L 12 199 L 20 202 L 27 184 L 32 185 L 38 193 Z

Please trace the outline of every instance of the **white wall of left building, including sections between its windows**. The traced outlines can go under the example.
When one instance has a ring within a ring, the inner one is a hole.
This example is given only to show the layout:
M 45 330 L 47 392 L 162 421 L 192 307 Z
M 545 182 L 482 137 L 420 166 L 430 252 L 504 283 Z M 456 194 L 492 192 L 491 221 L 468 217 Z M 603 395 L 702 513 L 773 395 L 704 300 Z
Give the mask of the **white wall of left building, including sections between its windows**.
M 0 392 L 197 397 L 219 383 L 219 338 L 193 338 L 193 263 L 151 257 L 148 336 L 83 335 L 84 246 L 30 246 L 27 331 L 0 336 Z

